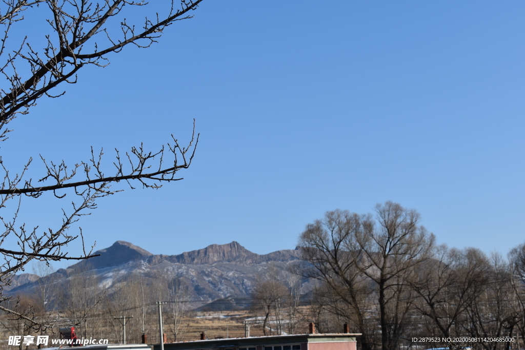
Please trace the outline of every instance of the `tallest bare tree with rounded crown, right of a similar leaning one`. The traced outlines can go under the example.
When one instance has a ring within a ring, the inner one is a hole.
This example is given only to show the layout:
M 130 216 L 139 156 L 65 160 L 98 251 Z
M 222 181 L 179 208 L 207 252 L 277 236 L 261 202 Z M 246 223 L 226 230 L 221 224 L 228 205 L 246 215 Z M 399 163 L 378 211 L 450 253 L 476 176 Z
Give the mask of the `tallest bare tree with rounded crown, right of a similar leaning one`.
M 418 226 L 419 214 L 387 201 L 376 207 L 377 225 L 362 218 L 350 248 L 358 269 L 377 284 L 383 350 L 397 348 L 413 296 L 407 281 L 430 258 L 434 235 Z

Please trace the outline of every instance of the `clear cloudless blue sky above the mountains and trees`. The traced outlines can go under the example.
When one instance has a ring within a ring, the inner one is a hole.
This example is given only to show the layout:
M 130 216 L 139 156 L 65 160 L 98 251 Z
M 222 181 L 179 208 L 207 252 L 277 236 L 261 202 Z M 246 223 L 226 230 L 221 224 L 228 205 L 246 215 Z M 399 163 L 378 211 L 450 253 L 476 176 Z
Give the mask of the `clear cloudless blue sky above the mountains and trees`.
M 90 146 L 111 163 L 114 147 L 187 140 L 196 120 L 184 180 L 101 200 L 78 225 L 87 242 L 268 253 L 327 210 L 386 200 L 452 247 L 525 240 L 525 3 L 206 0 L 193 14 L 10 124 L 2 153 L 21 165 Z M 25 199 L 25 217 L 48 227 L 57 203 Z

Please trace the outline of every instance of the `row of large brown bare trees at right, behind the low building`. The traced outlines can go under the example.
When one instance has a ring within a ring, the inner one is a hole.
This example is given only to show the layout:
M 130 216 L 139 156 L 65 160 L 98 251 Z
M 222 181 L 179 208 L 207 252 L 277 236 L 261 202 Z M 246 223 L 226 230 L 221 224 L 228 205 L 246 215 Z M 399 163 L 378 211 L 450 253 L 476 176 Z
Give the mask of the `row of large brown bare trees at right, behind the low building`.
M 349 323 L 362 333 L 363 350 L 458 345 L 418 342 L 424 338 L 461 338 L 460 346 L 486 350 L 523 346 L 523 245 L 507 260 L 436 246 L 415 210 L 387 202 L 374 215 L 326 213 L 300 235 L 300 247 L 295 272 L 318 281 L 310 308 L 321 332 Z

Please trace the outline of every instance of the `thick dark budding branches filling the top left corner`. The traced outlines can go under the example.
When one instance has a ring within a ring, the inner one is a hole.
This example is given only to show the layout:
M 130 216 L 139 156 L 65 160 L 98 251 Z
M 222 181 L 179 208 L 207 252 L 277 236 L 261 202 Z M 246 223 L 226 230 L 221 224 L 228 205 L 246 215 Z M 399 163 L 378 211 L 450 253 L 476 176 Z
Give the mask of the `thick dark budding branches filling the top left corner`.
M 27 113 L 29 107 L 35 101 L 44 96 L 49 90 L 57 87 L 62 82 L 76 82 L 68 79 L 74 76 L 77 71 L 85 65 L 106 66 L 100 60 L 106 61 L 105 55 L 110 52 L 119 52 L 128 44 L 135 44 L 138 47 L 149 47 L 156 42 L 162 35 L 163 30 L 182 19 L 188 19 L 190 10 L 194 10 L 202 0 L 183 0 L 181 8 L 174 12 L 173 2 L 170 11 L 161 19 L 157 14 L 154 21 L 145 18 L 145 24 L 138 33 L 135 33 L 135 26 L 128 25 L 123 19 L 120 23 L 123 37 L 120 40 L 113 40 L 108 34 L 107 25 L 111 17 L 117 16 L 125 5 L 145 6 L 146 3 L 128 0 L 113 0 L 111 2 L 91 2 L 80 0 L 79 2 L 62 2 L 57 0 L 36 0 L 34 2 L 17 1 L 9 4 L 4 14 L 0 13 L 0 24 L 12 24 L 13 21 L 20 20 L 17 14 L 25 9 L 33 8 L 40 3 L 46 3 L 51 12 L 52 19 L 48 23 L 57 34 L 58 42 L 54 43 L 50 36 L 47 36 L 47 48 L 44 50 L 46 59 L 41 59 L 36 51 L 30 49 L 24 54 L 22 47 L 13 52 L 7 59 L 7 66 L 14 71 L 13 75 L 7 75 L 11 88 L 8 91 L 0 90 L 0 123 L 5 125 L 17 113 Z M 76 12 L 76 13 L 75 13 Z M 89 30 L 85 30 L 86 25 L 92 24 Z M 10 26 L 7 26 L 7 31 Z M 99 33 L 106 33 L 111 45 L 99 50 L 99 44 L 95 40 Z M 131 35 L 131 36 L 130 36 Z M 146 40 L 146 44 L 139 41 Z M 85 44 L 93 41 L 93 51 L 87 54 L 82 53 L 86 49 Z M 5 44 L 5 43 L 4 43 Z M 31 76 L 23 79 L 18 75 L 14 62 L 17 58 L 26 60 L 31 67 Z

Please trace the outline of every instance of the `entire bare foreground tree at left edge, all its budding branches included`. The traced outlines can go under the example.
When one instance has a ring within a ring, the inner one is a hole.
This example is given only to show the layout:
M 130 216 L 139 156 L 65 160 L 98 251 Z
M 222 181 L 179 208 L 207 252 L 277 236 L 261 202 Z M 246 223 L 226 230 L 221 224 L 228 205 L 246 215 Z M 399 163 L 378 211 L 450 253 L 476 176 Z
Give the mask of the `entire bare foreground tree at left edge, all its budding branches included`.
M 0 25 L 4 28 L 0 44 L 0 72 L 4 77 L 0 88 L 0 140 L 7 140 L 9 122 L 27 114 L 39 98 L 64 94 L 61 87 L 76 83 L 81 68 L 104 67 L 111 54 L 122 51 L 129 44 L 141 48 L 151 46 L 168 26 L 191 18 L 191 11 L 201 1 L 182 0 L 178 9 L 173 0 L 163 2 L 166 5 L 164 13 L 153 11 L 153 16 L 146 17 L 141 25 L 130 23 L 126 14 L 133 8 L 147 9 L 148 3 L 142 1 L 3 1 L 0 8 Z M 23 34 L 30 27 L 26 24 L 30 16 L 45 19 L 49 28 L 36 43 L 29 43 L 27 35 Z M 15 33 L 22 33 L 23 39 L 12 41 L 20 37 Z M 102 161 L 102 150 L 95 152 L 92 148 L 88 161 L 72 166 L 64 161 L 47 161 L 40 155 L 44 173 L 37 175 L 37 180 L 29 176 L 33 158 L 18 171 L 10 171 L 0 157 L 0 171 L 3 172 L 0 220 L 4 225 L 4 231 L 0 232 L 0 253 L 4 258 L 0 267 L 0 303 L 8 299 L 2 286 L 8 285 L 13 275 L 31 260 L 92 257 L 92 248 L 75 257 L 65 251 L 68 243 L 82 237 L 81 230 L 78 235 L 70 233 L 71 225 L 95 209 L 97 199 L 122 190 L 110 188 L 114 183 L 125 182 L 133 188 L 132 181 L 135 181 L 144 188 L 160 188 L 164 182 L 180 180 L 176 173 L 190 166 L 197 142 L 195 133 L 185 146 L 172 136 L 171 143 L 158 151 L 145 150 L 142 145 L 132 147 L 124 155 L 116 151 L 116 159 L 107 165 Z M 51 192 L 57 198 L 74 197 L 68 201 L 70 209 L 61 211 L 61 224 L 43 231 L 18 222 L 22 197 L 35 199 L 44 192 Z M 2 305 L 0 310 L 17 315 L 28 327 L 41 326 L 30 311 L 15 312 Z

